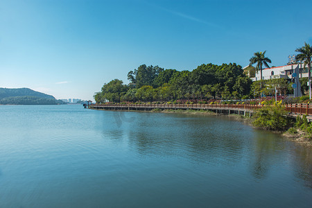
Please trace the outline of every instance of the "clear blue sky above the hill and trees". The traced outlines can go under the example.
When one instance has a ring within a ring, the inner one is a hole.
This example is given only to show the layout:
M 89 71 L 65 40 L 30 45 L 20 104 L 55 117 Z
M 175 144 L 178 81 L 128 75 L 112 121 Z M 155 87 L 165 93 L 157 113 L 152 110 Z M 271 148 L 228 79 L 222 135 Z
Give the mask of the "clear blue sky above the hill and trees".
M 141 64 L 192 70 L 312 44 L 312 1 L 1 0 L 0 87 L 93 99 Z

